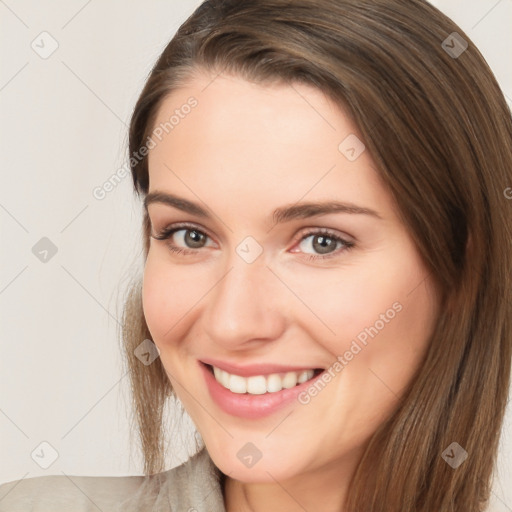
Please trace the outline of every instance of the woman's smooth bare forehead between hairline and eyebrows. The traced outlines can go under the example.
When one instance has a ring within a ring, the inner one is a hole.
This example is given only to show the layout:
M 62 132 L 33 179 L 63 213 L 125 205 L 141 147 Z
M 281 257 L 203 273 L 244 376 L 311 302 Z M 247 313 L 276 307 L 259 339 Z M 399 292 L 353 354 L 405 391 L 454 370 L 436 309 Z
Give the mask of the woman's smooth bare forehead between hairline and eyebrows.
M 368 152 L 355 160 L 343 152 L 344 141 L 362 139 L 357 127 L 311 86 L 199 75 L 163 101 L 153 129 L 150 191 L 208 197 L 240 211 L 262 199 L 391 206 Z

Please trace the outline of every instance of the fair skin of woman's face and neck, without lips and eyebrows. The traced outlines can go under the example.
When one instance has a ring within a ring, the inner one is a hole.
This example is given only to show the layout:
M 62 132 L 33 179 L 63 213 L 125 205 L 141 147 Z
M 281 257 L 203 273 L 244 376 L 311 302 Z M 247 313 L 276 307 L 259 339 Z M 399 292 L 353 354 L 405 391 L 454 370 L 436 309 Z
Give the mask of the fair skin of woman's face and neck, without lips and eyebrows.
M 421 364 L 438 313 L 434 284 L 369 151 L 349 161 L 338 149 L 359 132 L 321 91 L 197 73 L 165 99 L 155 126 L 190 96 L 197 107 L 149 153 L 149 191 L 197 202 L 212 217 L 159 203 L 148 213 L 153 234 L 189 222 L 209 238 L 202 248 L 187 245 L 189 232 L 151 238 L 148 327 L 178 397 L 228 475 L 228 512 L 319 510 L 319 503 L 343 510 L 368 440 Z M 273 223 L 278 207 L 327 200 L 372 208 L 380 218 L 329 213 Z M 321 228 L 354 247 L 337 244 L 322 260 L 311 235 Z M 235 250 L 247 236 L 263 249 L 250 264 Z M 175 254 L 169 243 L 195 252 Z M 308 404 L 237 418 L 213 402 L 199 372 L 197 360 L 207 357 L 332 367 L 397 302 L 400 312 Z M 262 453 L 251 468 L 237 457 L 247 442 Z

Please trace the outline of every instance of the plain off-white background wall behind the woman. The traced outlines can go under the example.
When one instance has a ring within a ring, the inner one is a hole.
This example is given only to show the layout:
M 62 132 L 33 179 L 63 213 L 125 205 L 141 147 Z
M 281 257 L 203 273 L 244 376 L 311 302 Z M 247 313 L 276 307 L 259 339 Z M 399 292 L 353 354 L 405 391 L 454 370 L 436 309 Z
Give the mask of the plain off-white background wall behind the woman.
M 433 3 L 512 105 L 512 0 Z M 127 278 L 142 270 L 141 207 L 129 176 L 103 200 L 93 190 L 126 163 L 147 74 L 199 4 L 0 0 L 0 482 L 142 473 L 116 330 Z M 46 262 L 33 252 L 42 238 L 57 251 Z M 177 444 L 193 446 L 186 425 Z M 511 445 L 509 407 L 494 512 L 512 511 Z

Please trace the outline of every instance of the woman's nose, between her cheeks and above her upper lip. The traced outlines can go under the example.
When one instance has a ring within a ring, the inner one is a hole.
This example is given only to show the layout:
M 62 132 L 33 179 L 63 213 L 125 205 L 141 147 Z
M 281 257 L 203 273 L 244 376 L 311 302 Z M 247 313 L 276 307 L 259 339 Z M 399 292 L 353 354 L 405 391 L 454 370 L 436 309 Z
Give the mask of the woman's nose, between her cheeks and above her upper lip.
M 281 283 L 263 257 L 246 263 L 234 254 L 229 264 L 208 294 L 203 311 L 207 338 L 229 351 L 279 339 L 287 323 Z

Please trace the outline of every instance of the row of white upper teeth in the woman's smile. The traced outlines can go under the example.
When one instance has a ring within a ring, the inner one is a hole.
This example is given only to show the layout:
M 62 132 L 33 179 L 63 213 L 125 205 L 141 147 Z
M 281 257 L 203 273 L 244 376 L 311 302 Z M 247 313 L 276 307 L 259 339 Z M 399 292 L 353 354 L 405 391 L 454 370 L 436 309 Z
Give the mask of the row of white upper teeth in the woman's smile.
M 263 395 L 264 393 L 276 393 L 284 389 L 290 389 L 297 384 L 302 384 L 313 378 L 314 370 L 301 372 L 287 372 L 283 377 L 278 373 L 270 375 L 255 375 L 253 377 L 241 377 L 233 375 L 220 368 L 213 367 L 215 380 L 233 393 L 249 393 L 251 395 Z

